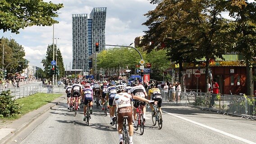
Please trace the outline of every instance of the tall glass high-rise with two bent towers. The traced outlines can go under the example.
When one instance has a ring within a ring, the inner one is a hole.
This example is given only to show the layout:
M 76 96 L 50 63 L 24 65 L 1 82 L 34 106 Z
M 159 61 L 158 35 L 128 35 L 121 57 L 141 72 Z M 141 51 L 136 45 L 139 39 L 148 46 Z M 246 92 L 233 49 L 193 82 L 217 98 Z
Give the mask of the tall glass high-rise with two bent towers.
M 90 18 L 87 14 L 72 14 L 72 69 L 89 72 L 92 67 L 92 61 L 88 57 L 95 53 L 95 43 L 105 44 L 106 9 L 93 8 Z M 100 46 L 99 52 L 104 49 L 105 46 Z

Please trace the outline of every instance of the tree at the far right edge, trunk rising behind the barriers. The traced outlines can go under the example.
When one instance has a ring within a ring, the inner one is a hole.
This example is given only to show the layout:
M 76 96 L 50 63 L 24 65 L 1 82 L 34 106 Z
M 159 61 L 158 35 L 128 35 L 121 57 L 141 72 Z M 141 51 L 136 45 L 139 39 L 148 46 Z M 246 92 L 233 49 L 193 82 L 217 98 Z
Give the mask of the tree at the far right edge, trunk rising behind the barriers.
M 252 63 L 256 57 L 256 2 L 233 0 L 227 5 L 229 15 L 234 18 L 230 33 L 234 44 L 231 49 L 244 56 L 246 63 L 247 95 L 253 95 Z

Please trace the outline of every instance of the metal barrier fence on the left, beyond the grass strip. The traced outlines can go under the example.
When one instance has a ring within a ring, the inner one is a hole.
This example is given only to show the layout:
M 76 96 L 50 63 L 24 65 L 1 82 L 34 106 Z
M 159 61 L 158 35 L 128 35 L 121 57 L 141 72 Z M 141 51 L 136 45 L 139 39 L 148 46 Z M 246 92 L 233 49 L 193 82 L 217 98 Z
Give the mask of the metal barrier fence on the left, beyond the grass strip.
M 20 88 L 9 88 L 9 89 L 1 89 L 0 93 L 5 90 L 10 90 L 11 95 L 14 96 L 13 99 L 23 98 L 36 93 L 57 93 L 57 94 L 65 94 L 64 85 L 34 85 L 34 86 L 24 86 Z

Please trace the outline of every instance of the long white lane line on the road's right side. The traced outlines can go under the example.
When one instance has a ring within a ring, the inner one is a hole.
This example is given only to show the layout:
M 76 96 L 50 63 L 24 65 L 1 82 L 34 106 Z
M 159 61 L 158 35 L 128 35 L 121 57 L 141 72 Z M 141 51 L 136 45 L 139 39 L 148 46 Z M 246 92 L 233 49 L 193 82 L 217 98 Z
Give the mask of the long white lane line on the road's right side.
M 192 121 L 192 120 L 190 120 L 190 119 L 187 119 L 187 118 L 184 118 L 184 117 L 181 117 L 181 116 L 177 116 L 177 115 L 175 115 L 174 113 L 169 113 L 169 112 L 166 112 L 166 111 L 163 111 L 163 110 L 162 110 L 162 112 L 165 112 L 165 113 L 167 113 L 167 114 L 169 114 L 169 115 L 172 115 L 172 116 L 174 116 L 174 117 L 178 117 L 178 118 L 183 119 L 183 120 L 185 120 L 185 121 L 194 123 L 194 124 L 196 124 L 196 125 L 198 125 L 198 126 L 202 126 L 202 127 L 207 128 L 207 129 L 214 130 L 214 131 L 216 131 L 216 132 L 218 132 L 218 133 L 220 133 L 220 134 L 227 135 L 227 136 L 232 137 L 232 138 L 234 138 L 234 139 L 238 139 L 238 140 L 243 141 L 243 142 L 245 142 L 245 143 L 247 143 L 247 144 L 256 144 L 255 142 L 252 142 L 252 141 L 247 140 L 247 139 L 243 139 L 243 138 L 241 138 L 241 137 L 239 137 L 239 136 L 229 134 L 229 133 L 224 132 L 224 131 L 222 131 L 222 130 L 218 130 L 218 129 L 215 129 L 215 128 L 210 127 L 210 126 L 206 126 L 206 125 L 204 125 L 204 124 L 201 124 L 201 123 L 196 122 L 196 121 Z

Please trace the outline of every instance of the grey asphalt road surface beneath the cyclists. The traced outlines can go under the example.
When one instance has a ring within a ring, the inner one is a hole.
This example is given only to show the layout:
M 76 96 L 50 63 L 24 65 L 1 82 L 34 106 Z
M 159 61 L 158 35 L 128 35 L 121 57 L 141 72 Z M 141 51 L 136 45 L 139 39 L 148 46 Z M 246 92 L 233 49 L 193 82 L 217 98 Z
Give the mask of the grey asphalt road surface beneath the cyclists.
M 134 131 L 134 144 L 256 144 L 256 123 L 196 108 L 163 104 L 163 128 L 152 126 L 147 108 L 144 135 Z M 110 117 L 93 107 L 89 126 L 82 109 L 74 117 L 64 99 L 20 132 L 9 144 L 118 144 Z

